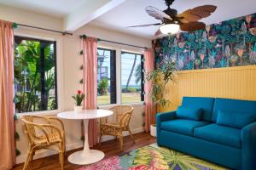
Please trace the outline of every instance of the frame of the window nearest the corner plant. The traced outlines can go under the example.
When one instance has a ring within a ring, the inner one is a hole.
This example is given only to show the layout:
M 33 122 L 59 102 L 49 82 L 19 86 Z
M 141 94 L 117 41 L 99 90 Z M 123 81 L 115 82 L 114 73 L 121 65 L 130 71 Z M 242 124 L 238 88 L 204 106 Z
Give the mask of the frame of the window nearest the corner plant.
M 141 55 L 141 101 L 139 102 L 133 102 L 133 103 L 122 103 L 122 54 L 136 54 L 136 55 Z M 128 52 L 125 50 L 121 50 L 120 53 L 120 104 L 121 105 L 137 105 L 144 103 L 144 55 L 136 52 Z

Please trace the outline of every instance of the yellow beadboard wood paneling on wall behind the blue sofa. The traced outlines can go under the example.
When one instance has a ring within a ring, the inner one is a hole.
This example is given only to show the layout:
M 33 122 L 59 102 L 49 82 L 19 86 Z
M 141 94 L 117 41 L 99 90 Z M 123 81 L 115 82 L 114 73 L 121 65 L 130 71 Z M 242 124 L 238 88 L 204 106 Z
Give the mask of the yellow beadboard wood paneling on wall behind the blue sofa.
M 162 111 L 176 110 L 183 96 L 256 100 L 256 65 L 179 71 L 167 85 L 171 104 Z

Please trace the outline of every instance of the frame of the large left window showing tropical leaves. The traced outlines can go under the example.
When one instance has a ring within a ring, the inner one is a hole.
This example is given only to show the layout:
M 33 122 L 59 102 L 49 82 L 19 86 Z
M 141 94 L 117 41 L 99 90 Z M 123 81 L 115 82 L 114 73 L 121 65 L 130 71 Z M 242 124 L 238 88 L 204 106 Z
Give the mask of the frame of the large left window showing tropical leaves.
M 26 41 L 35 41 L 35 42 L 40 42 L 40 44 L 43 42 L 45 44 L 47 43 L 52 43 L 53 46 L 54 46 L 54 55 L 55 55 L 55 109 L 54 110 L 41 110 L 41 111 L 28 111 L 28 112 L 15 112 L 15 114 L 18 114 L 18 115 L 26 115 L 26 114 L 39 114 L 39 115 L 44 115 L 44 113 L 55 113 L 55 111 L 59 111 L 60 110 L 60 104 L 59 104 L 59 95 L 58 95 L 58 65 L 57 65 L 57 42 L 55 40 L 49 40 L 49 39 L 44 39 L 44 38 L 38 38 L 38 37 L 31 37 L 29 35 L 16 35 L 14 36 L 14 42 L 17 42 L 17 41 L 22 41 L 22 40 L 26 40 Z M 20 42 L 21 42 L 20 41 Z M 44 54 L 44 50 L 42 50 L 44 48 L 42 48 L 42 46 L 40 47 L 40 51 L 41 51 L 41 54 L 40 54 L 40 59 L 41 59 L 41 62 L 40 62 L 40 65 L 43 66 L 44 64 L 42 64 L 42 61 L 44 60 L 44 57 L 43 54 Z M 43 61 L 44 63 L 44 61 Z M 40 77 L 40 80 L 41 80 L 41 91 L 43 91 L 43 86 L 42 86 L 42 73 L 45 73 L 44 69 L 43 71 L 40 71 L 40 74 L 41 74 L 41 77 Z M 14 75 L 15 76 L 15 75 Z M 45 81 L 45 79 L 44 79 Z M 43 82 L 44 82 L 43 81 Z M 45 95 L 45 94 L 43 94 Z M 41 94 L 41 104 L 42 104 L 42 94 Z M 47 107 L 47 106 L 46 106 Z M 16 109 L 15 109 L 16 110 Z

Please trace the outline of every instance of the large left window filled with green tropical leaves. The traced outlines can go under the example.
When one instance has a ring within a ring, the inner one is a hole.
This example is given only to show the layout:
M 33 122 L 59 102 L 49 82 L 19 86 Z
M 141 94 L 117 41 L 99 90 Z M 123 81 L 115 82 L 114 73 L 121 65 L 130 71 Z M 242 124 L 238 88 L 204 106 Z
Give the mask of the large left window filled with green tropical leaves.
M 15 37 L 15 111 L 56 110 L 56 43 Z

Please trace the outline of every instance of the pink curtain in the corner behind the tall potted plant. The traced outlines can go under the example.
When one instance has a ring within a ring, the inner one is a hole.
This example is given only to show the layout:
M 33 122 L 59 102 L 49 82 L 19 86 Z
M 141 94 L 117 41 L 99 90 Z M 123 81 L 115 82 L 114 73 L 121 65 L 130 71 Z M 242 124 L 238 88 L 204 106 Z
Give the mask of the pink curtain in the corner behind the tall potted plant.
M 154 71 L 154 49 L 148 48 L 144 53 L 144 68 L 145 68 L 145 76 L 150 71 Z M 150 125 L 155 124 L 155 114 L 156 107 L 152 99 L 150 99 L 150 88 L 151 82 L 146 81 L 144 86 L 145 91 L 145 130 L 146 132 L 150 131 Z

